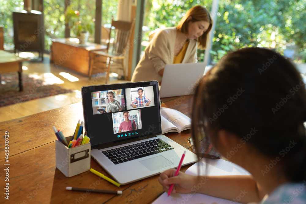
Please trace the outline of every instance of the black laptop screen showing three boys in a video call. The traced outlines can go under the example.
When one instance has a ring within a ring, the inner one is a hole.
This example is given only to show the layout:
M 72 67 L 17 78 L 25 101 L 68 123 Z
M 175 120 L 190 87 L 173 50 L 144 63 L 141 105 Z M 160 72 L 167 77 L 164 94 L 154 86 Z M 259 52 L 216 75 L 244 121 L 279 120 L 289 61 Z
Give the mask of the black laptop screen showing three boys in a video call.
M 85 86 L 81 92 L 92 148 L 161 134 L 157 81 Z

